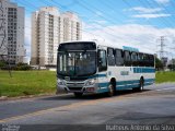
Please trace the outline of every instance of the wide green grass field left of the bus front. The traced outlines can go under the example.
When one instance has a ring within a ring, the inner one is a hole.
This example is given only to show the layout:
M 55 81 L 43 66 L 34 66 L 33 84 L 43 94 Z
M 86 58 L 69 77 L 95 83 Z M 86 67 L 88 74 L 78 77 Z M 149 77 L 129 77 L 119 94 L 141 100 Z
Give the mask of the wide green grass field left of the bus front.
M 0 95 L 14 97 L 56 92 L 56 72 L 52 71 L 0 71 Z

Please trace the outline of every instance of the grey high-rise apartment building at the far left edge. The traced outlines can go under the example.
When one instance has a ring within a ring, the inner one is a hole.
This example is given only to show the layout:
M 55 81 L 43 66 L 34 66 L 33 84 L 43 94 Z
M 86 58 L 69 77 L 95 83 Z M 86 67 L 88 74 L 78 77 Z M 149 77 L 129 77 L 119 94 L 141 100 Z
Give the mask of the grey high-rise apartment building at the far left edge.
M 9 0 L 0 1 L 0 55 L 11 64 L 23 62 L 25 56 L 24 8 Z

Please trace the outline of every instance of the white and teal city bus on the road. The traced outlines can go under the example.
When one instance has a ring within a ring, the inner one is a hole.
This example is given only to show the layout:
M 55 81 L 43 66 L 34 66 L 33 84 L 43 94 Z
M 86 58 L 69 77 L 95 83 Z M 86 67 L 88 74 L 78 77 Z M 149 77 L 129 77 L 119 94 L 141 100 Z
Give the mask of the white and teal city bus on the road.
M 155 81 L 154 55 L 136 48 L 105 46 L 98 41 L 69 41 L 58 47 L 57 93 L 107 93 L 143 86 Z

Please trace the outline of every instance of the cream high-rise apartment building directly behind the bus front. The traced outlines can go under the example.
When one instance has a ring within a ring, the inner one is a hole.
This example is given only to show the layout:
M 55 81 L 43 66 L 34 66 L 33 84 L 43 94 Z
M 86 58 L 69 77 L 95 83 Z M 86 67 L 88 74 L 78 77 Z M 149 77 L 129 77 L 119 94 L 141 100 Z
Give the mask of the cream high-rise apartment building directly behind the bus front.
M 56 67 L 58 45 L 81 39 L 81 22 L 71 12 L 55 7 L 40 8 L 32 14 L 31 64 Z

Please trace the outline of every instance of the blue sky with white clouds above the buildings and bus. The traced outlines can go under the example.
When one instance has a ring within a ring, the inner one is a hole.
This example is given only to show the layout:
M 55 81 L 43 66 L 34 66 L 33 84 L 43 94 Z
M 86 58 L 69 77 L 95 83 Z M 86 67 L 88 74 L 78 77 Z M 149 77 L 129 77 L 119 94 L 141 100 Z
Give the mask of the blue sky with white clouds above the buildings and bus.
M 82 39 L 130 46 L 159 53 L 165 36 L 164 56 L 175 58 L 175 0 L 11 0 L 25 8 L 25 48 L 31 56 L 31 15 L 40 7 L 71 11 L 82 21 Z

